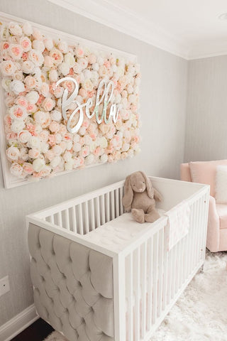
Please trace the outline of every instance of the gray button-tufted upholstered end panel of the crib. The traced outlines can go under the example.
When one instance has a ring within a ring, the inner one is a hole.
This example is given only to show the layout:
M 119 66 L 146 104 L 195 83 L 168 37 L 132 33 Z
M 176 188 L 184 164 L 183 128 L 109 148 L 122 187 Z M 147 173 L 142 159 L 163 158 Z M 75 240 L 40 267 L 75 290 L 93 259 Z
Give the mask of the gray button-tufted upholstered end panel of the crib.
M 114 341 L 112 259 L 34 224 L 28 247 L 38 315 L 70 341 Z

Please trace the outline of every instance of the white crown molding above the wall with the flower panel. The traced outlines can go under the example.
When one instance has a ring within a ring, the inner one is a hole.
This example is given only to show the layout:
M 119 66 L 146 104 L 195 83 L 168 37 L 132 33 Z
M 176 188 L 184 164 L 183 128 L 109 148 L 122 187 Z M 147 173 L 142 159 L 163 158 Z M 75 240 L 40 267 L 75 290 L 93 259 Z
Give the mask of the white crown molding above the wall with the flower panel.
M 169 53 L 189 59 L 189 49 L 183 40 L 145 20 L 123 6 L 113 4 L 111 0 L 48 0 L 52 4 L 97 21 L 117 31 L 133 36 Z

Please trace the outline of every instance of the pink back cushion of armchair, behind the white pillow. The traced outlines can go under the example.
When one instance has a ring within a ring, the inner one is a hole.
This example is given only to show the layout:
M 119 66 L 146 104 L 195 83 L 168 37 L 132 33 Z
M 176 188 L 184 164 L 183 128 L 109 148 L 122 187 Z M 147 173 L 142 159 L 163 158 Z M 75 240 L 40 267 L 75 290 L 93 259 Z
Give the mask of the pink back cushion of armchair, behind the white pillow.
M 190 162 L 190 172 L 194 183 L 210 185 L 210 194 L 215 195 L 216 167 L 227 166 L 227 160 Z

